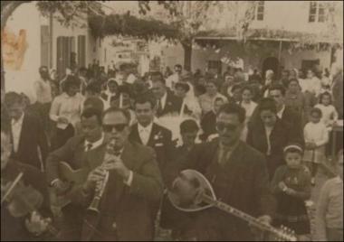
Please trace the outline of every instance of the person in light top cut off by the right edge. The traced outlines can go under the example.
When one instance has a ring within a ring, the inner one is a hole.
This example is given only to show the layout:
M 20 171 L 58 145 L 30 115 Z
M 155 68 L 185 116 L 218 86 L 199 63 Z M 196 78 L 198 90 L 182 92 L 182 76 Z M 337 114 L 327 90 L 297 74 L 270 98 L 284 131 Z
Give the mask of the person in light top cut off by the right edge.
M 343 241 L 343 150 L 339 152 L 339 176 L 326 181 L 320 191 L 315 241 Z

